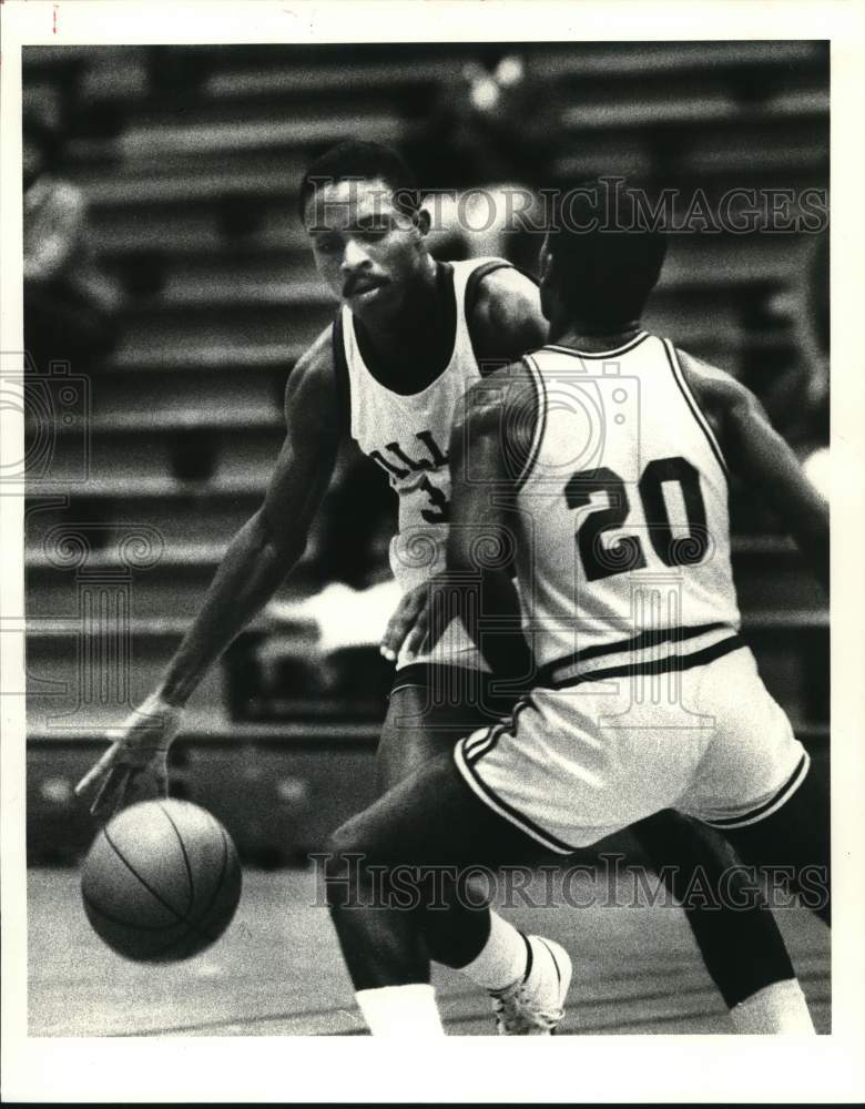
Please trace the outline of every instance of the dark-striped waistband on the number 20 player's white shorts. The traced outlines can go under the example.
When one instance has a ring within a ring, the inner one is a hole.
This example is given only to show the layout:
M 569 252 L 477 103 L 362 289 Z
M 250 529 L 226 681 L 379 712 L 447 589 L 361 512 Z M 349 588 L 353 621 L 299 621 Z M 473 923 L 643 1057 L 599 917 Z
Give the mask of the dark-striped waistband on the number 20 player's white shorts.
M 598 643 L 539 668 L 536 684 L 562 689 L 578 682 L 689 670 L 737 651 L 745 643 L 726 622 L 661 628 L 614 643 Z

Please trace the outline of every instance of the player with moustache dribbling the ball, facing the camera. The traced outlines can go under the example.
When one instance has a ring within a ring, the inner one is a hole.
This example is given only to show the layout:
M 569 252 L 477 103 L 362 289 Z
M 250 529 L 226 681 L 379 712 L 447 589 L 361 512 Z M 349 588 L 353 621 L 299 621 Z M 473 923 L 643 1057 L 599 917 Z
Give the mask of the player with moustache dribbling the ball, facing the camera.
M 423 610 L 427 583 L 445 566 L 447 447 L 461 399 L 486 368 L 513 362 L 547 336 L 536 285 L 507 263 L 432 260 L 425 245 L 428 216 L 393 151 L 355 142 L 335 147 L 309 167 L 301 203 L 316 264 L 342 307 L 288 378 L 286 438 L 262 508 L 230 545 L 160 688 L 78 787 L 99 784 L 98 815 L 166 792 L 166 755 L 183 706 L 302 554 L 345 434 L 386 471 L 399 499 L 391 567 L 405 599 L 388 641 L 405 635 Z M 502 590 L 501 603 L 517 613 L 512 589 Z M 521 637 L 496 654 L 497 665 L 513 676 L 529 672 Z M 378 750 L 383 791 L 489 723 L 495 703 L 489 668 L 459 621 L 435 650 L 411 659 L 403 651 L 396 662 Z M 454 704 L 452 691 L 471 681 L 481 695 Z M 662 873 L 674 894 L 688 888 L 696 867 L 719 881 L 734 861 L 719 837 L 673 813 L 644 822 L 639 835 L 648 854 L 665 864 Z M 696 906 L 688 917 L 740 1030 L 811 1028 L 783 942 L 762 903 L 745 912 Z M 500 936 L 516 934 L 496 913 L 480 919 L 493 947 Z M 437 958 L 461 967 L 474 960 L 476 936 L 474 927 L 464 946 L 454 934 L 440 950 L 434 936 L 428 943 Z M 529 1001 L 517 1011 L 500 991 L 527 973 L 527 958 L 533 966 Z M 562 952 L 559 958 L 567 956 Z M 474 977 L 496 995 L 500 1030 L 548 1031 L 556 1022 L 548 1014 L 560 1014 L 567 993 L 567 980 L 553 980 L 549 946 L 520 936 L 516 959 L 511 947 L 503 963 L 487 962 Z M 409 1021 L 406 1029 L 411 1027 Z

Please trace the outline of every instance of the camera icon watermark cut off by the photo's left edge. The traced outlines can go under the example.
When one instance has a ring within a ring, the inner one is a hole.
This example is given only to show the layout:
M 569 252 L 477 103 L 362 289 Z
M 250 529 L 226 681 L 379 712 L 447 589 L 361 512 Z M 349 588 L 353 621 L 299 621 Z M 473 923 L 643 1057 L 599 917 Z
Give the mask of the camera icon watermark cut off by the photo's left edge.
M 21 482 L 34 490 L 85 482 L 91 404 L 90 378 L 73 374 L 69 363 L 37 369 L 21 352 L 0 355 L 0 410 L 7 419 L 20 414 L 23 425 L 23 441 L 0 459 L 0 492 Z

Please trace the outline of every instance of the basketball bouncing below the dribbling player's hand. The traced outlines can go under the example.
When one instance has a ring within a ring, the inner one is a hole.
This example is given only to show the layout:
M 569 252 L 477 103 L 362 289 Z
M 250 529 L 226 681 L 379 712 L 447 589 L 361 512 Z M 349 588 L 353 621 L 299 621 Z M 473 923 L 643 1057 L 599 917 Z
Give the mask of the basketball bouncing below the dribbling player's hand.
M 241 899 L 241 865 L 211 813 L 187 801 L 144 801 L 99 833 L 81 893 L 91 925 L 119 955 L 175 963 L 225 932 Z

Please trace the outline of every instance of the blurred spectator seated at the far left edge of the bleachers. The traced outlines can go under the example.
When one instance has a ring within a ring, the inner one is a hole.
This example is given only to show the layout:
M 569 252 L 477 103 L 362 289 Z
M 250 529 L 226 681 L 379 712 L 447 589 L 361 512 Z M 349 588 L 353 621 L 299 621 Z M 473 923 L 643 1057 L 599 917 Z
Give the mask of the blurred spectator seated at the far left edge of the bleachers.
M 86 369 L 112 346 L 121 294 L 93 260 L 81 190 L 55 175 L 60 146 L 47 114 L 26 109 L 24 346 L 39 368 L 57 359 Z

